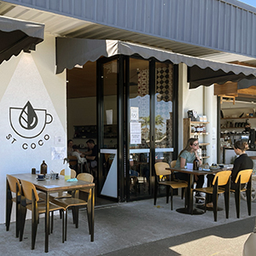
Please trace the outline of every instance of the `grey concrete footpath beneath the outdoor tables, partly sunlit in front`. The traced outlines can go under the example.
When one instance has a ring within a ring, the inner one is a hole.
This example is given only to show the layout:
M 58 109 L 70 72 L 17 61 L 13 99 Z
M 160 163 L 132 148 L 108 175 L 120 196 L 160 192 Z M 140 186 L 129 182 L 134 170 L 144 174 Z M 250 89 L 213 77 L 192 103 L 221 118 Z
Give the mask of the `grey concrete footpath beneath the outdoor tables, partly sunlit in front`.
M 96 208 L 95 241 L 90 242 L 86 212 L 81 209 L 79 229 L 72 224 L 70 212 L 67 241 L 61 243 L 61 220 L 55 215 L 54 232 L 49 236 L 47 255 L 186 255 L 186 256 L 237 256 L 242 255 L 243 244 L 253 231 L 256 202 L 252 203 L 252 216 L 247 215 L 247 203 L 241 200 L 241 218 L 236 218 L 235 198 L 230 195 L 230 218 L 224 210 L 213 213 L 187 215 L 175 211 L 183 207 L 179 196 L 173 207 L 166 199 L 153 199 L 114 204 Z M 223 196 L 219 207 L 224 207 Z M 24 240 L 15 238 L 15 223 L 10 230 L 0 225 L 0 252 L 2 255 L 46 255 L 44 253 L 44 218 L 40 218 L 35 250 L 31 250 L 31 221 L 26 221 Z

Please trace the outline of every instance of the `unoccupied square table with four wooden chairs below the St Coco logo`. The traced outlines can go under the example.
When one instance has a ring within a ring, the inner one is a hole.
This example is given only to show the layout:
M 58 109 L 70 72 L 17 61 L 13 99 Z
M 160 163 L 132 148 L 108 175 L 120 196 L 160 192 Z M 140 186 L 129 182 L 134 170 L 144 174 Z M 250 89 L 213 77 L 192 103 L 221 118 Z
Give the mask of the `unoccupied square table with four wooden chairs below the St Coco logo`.
M 67 212 L 72 212 L 73 225 L 79 228 L 79 208 L 86 208 L 88 228 L 80 227 L 83 233 L 90 234 L 90 241 L 94 241 L 94 207 L 95 183 L 89 173 L 80 173 L 76 177 L 71 170 L 71 178 L 65 179 L 64 170 L 53 174 L 7 174 L 6 175 L 6 230 L 9 231 L 12 207 L 15 203 L 15 237 L 24 239 L 26 228 L 26 212 L 32 215 L 31 248 L 36 247 L 39 214 L 44 213 L 44 252 L 49 252 L 49 237 L 53 236 L 56 226 L 61 226 L 60 242 L 68 240 Z M 80 193 L 85 197 L 80 198 Z M 55 214 L 55 212 L 58 212 Z M 54 220 L 54 217 L 60 219 Z M 43 220 L 42 220 L 43 221 Z M 86 229 L 86 230 L 85 230 Z M 88 229 L 88 231 L 87 231 Z M 84 239 L 86 236 L 84 236 Z

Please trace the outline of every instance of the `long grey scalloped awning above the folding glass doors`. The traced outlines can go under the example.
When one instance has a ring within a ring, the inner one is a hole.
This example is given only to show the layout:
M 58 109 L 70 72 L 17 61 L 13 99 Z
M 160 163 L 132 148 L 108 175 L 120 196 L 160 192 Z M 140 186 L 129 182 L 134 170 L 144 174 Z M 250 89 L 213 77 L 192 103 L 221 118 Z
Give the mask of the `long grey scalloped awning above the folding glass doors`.
M 65 68 L 72 69 L 76 64 L 96 61 L 101 56 L 141 55 L 144 59 L 154 57 L 158 61 L 172 61 L 173 64 L 185 63 L 189 66 L 189 87 L 226 81 L 255 79 L 256 68 L 228 64 L 218 61 L 173 53 L 142 44 L 133 44 L 119 40 L 95 40 L 83 38 L 56 38 L 56 73 Z

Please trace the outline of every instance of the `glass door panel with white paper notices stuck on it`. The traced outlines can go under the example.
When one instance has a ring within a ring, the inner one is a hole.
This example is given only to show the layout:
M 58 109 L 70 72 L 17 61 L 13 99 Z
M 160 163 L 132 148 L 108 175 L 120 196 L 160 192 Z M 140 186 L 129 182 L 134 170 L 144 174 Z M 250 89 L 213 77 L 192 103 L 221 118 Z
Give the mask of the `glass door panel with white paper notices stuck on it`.
M 127 157 L 130 200 L 150 195 L 150 95 L 149 61 L 130 58 L 129 67 L 129 154 Z M 129 189 L 129 190 L 128 190 Z

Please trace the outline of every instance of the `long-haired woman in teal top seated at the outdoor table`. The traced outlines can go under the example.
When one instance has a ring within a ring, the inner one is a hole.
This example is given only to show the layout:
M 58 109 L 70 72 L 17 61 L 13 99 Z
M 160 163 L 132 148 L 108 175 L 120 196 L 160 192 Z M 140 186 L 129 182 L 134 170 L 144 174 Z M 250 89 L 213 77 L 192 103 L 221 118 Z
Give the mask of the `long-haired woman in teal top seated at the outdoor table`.
M 199 164 L 201 165 L 201 160 L 199 159 L 197 154 L 198 149 L 199 149 L 198 139 L 189 138 L 187 146 L 180 152 L 180 154 L 178 154 L 175 168 L 184 168 L 187 165 L 187 163 L 193 163 L 193 161 L 195 160 L 195 157 L 199 160 Z M 185 181 L 189 180 L 188 173 L 175 172 L 175 177 L 180 180 L 185 180 Z M 204 183 L 204 176 L 195 175 L 195 183 L 196 183 L 196 188 L 202 188 Z M 203 196 L 199 192 L 195 194 L 195 197 L 201 198 L 201 199 L 203 198 Z

